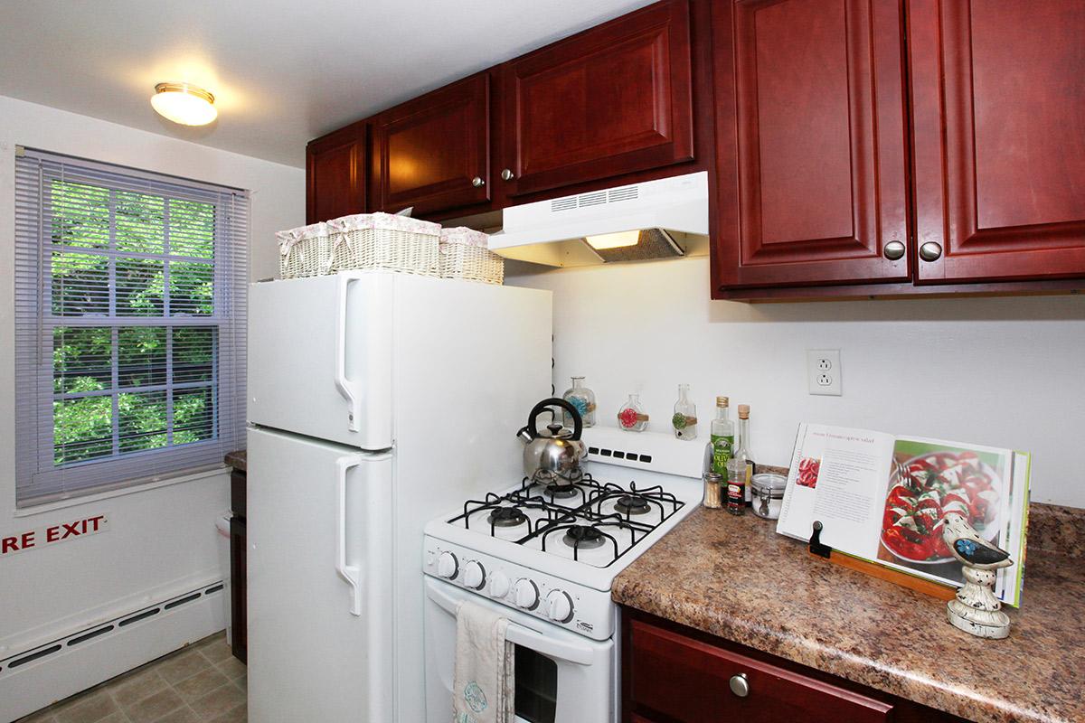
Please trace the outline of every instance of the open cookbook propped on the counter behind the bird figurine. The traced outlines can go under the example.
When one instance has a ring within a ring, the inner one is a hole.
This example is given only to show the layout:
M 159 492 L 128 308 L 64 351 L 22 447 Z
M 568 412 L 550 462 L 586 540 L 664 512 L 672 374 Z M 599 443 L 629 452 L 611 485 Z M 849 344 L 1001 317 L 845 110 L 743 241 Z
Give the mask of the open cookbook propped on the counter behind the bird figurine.
M 939 583 L 963 584 L 942 539 L 950 512 L 1010 554 L 995 595 L 1018 606 L 1030 456 L 1008 449 L 802 424 L 776 531 Z

